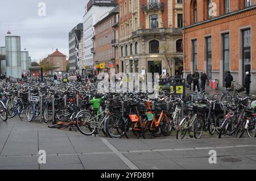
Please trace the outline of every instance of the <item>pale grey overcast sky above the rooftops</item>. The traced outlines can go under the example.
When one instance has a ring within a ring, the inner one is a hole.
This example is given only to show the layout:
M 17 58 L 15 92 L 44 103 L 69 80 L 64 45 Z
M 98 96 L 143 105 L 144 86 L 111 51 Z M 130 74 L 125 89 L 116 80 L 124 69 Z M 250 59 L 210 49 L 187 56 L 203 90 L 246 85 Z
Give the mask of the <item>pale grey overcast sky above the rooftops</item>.
M 88 0 L 0 0 L 0 47 L 6 32 L 21 37 L 32 61 L 51 54 L 56 48 L 69 56 L 68 33 L 82 23 Z M 46 3 L 46 16 L 39 16 L 40 2 Z M 52 51 L 53 49 L 53 51 Z

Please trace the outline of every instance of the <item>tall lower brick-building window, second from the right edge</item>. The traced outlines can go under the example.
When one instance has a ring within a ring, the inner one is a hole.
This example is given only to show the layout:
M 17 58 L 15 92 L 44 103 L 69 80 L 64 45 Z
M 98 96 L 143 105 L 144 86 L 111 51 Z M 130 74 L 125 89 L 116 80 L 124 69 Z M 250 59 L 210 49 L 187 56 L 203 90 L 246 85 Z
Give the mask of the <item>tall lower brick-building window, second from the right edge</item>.
M 229 66 L 229 33 L 222 35 L 223 47 L 223 78 L 225 79 L 226 73 L 230 70 Z M 224 81 L 225 82 L 225 81 Z

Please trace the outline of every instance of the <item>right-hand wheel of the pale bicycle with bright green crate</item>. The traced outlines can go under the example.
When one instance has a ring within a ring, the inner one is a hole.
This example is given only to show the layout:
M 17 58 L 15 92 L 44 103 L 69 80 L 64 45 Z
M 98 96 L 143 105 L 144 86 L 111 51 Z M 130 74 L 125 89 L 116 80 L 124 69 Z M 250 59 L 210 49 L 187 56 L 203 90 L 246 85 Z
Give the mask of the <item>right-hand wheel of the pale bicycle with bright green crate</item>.
M 121 138 L 123 134 L 123 123 L 119 115 L 110 115 L 105 121 L 106 133 L 110 138 Z

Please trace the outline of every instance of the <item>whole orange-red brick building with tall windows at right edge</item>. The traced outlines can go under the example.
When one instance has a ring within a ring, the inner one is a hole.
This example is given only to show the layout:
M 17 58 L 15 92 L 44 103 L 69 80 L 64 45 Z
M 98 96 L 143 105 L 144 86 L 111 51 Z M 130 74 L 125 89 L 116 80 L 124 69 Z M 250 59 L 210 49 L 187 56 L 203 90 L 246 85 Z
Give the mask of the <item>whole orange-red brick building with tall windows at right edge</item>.
M 189 0 L 183 6 L 185 70 L 205 70 L 221 87 L 227 71 L 240 84 L 246 71 L 254 80 L 256 0 Z

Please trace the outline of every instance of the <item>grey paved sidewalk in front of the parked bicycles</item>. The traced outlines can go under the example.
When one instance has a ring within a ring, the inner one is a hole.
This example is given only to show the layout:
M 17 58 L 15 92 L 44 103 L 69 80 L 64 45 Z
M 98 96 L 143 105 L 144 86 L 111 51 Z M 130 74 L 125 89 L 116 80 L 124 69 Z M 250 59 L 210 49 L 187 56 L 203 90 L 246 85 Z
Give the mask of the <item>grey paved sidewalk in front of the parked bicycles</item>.
M 45 150 L 46 164 L 38 163 Z M 209 164 L 216 150 L 217 164 Z M 2 169 L 255 169 L 256 139 L 113 140 L 27 121 L 0 122 Z

